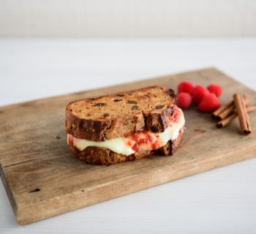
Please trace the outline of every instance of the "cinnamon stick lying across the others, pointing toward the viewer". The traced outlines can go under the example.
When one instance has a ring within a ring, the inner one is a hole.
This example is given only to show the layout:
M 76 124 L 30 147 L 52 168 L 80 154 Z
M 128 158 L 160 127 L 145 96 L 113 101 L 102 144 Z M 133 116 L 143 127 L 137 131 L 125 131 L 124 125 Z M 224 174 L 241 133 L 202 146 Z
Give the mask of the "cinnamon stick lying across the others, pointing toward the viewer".
M 249 116 L 246 111 L 246 105 L 244 103 L 244 98 L 242 94 L 233 95 L 236 110 L 238 113 L 239 124 L 241 127 L 241 133 L 243 135 L 248 135 L 252 132 L 251 124 L 249 123 Z

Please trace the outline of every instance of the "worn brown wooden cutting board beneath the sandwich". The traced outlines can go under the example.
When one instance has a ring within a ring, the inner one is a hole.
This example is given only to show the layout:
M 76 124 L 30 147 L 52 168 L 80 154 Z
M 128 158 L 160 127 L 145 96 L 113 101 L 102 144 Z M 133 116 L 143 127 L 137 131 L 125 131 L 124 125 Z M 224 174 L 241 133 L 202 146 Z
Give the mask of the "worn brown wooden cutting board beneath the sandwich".
M 224 88 L 222 102 L 240 92 L 256 104 L 255 91 L 210 68 L 0 107 L 1 179 L 18 223 L 29 224 L 256 156 L 256 112 L 249 114 L 252 134 L 244 136 L 238 133 L 238 120 L 217 129 L 210 114 L 197 110 L 185 111 L 187 131 L 174 156 L 107 167 L 86 165 L 69 151 L 64 132 L 68 102 L 145 86 L 176 88 L 181 80 L 204 86 L 219 83 Z

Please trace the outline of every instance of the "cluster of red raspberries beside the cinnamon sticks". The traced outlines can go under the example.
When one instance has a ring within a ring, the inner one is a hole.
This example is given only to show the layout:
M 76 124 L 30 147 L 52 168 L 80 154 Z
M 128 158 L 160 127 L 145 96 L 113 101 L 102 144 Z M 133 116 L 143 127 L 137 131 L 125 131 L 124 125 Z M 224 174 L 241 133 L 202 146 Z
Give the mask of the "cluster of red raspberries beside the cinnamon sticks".
M 187 109 L 192 102 L 197 105 L 202 112 L 213 112 L 220 105 L 218 97 L 222 95 L 222 87 L 211 84 L 207 88 L 184 81 L 178 85 L 178 106 Z

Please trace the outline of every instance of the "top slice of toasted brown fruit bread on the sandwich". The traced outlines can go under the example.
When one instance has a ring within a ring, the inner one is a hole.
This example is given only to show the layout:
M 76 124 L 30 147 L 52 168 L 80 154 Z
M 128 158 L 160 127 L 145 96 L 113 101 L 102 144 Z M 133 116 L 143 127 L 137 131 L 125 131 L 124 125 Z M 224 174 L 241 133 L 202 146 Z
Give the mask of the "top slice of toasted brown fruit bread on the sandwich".
M 175 102 L 175 92 L 163 86 L 70 102 L 66 108 L 66 132 L 98 142 L 141 130 L 163 132 Z

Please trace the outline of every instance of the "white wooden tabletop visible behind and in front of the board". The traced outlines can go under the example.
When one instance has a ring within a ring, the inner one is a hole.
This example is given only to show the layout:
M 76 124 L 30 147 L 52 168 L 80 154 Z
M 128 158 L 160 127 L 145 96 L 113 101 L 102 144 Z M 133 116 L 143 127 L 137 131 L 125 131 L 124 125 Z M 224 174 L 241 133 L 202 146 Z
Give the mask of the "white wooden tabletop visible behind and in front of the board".
M 256 38 L 0 39 L 0 105 L 202 67 L 256 89 Z M 255 197 L 250 159 L 19 226 L 0 182 L 0 233 L 256 233 Z

